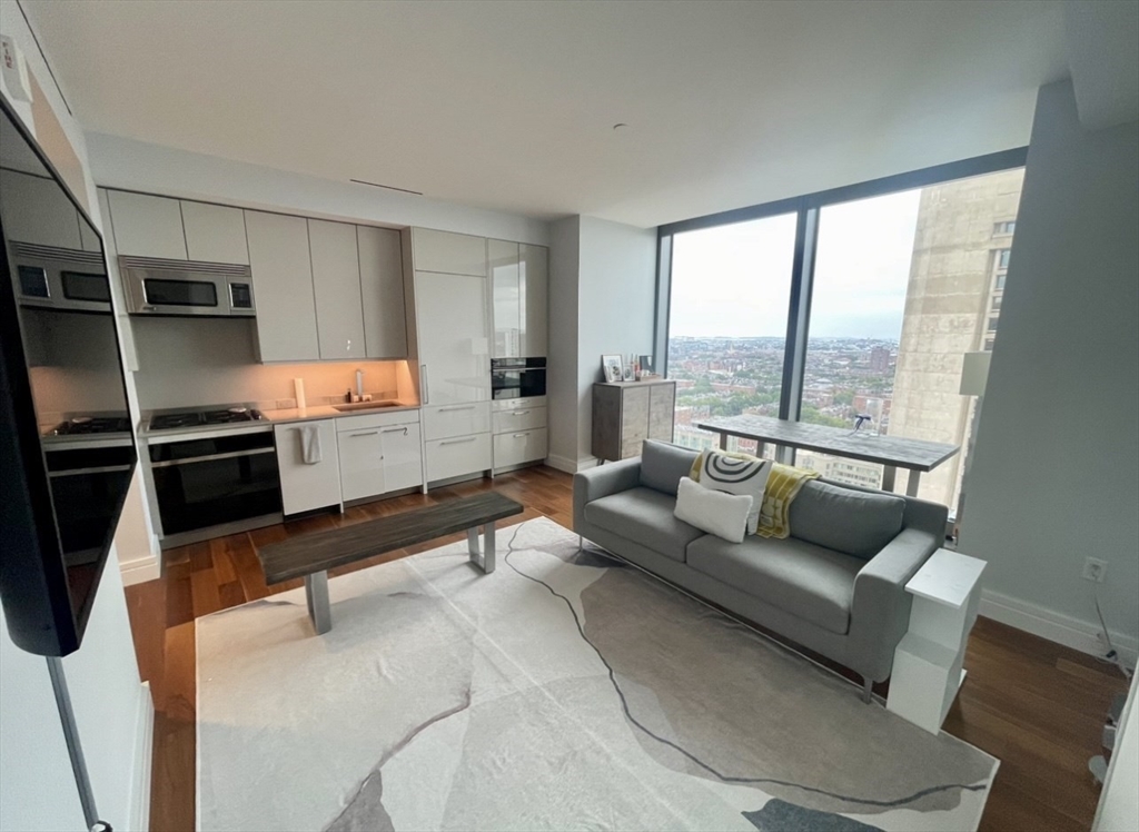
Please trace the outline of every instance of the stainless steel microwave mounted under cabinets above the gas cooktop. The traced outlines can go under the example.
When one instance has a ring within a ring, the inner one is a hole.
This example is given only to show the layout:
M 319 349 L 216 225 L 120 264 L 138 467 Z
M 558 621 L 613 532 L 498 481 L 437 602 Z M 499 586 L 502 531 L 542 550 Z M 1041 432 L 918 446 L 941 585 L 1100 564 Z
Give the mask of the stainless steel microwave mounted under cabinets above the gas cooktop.
M 248 266 L 118 258 L 131 315 L 254 316 Z

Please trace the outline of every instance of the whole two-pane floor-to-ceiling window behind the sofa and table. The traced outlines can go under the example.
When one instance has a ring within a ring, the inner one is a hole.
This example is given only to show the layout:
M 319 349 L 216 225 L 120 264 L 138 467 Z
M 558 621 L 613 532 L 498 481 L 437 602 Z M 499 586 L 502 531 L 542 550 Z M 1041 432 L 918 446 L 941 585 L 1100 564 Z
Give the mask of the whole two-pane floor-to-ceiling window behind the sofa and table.
M 685 223 L 672 234 L 662 229 L 671 254 L 662 259 L 671 267 L 662 279 L 669 285 L 671 277 L 667 370 L 682 385 L 677 441 L 713 444 L 691 427 L 700 416 L 753 413 L 850 430 L 858 416 L 869 416 L 863 430 L 872 433 L 962 448 L 926 474 L 919 491 L 956 506 L 976 406 L 961 392 L 961 369 L 966 354 L 992 350 L 997 338 L 1023 181 L 1016 166 L 1023 153 L 974 162 L 949 166 L 942 179 L 920 172 L 926 181 L 908 174 L 880 188 L 801 197 L 793 213 L 755 221 L 782 223 L 786 247 L 713 251 L 726 239 L 716 235 L 753 225 L 738 221 L 739 212 L 731 226 L 705 218 L 696 230 Z M 970 166 L 989 170 L 968 176 Z M 697 240 L 698 258 L 691 255 Z M 779 266 L 790 266 L 789 278 L 768 268 L 777 250 L 786 252 Z M 730 285 L 720 277 L 722 266 L 707 267 L 726 261 L 736 276 Z M 678 304 L 697 295 L 732 307 L 719 333 L 714 315 L 704 316 L 703 328 L 693 316 L 678 317 Z M 759 327 L 777 318 L 782 332 L 764 338 Z M 788 329 L 796 318 L 801 325 Z M 744 319 L 755 327 L 747 338 L 737 323 Z M 788 351 L 801 359 L 789 360 Z M 882 484 L 880 466 L 808 451 L 796 463 L 829 479 Z M 904 490 L 904 478 L 896 488 Z

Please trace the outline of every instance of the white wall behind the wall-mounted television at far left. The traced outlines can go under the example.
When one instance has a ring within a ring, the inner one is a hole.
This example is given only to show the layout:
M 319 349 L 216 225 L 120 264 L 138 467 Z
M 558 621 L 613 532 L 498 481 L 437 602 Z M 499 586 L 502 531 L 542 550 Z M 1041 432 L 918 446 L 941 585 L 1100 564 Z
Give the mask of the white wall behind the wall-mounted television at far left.
M 41 104 L 50 107 L 63 129 L 63 138 L 69 144 L 67 152 L 80 162 L 90 213 L 101 228 L 83 133 L 56 91 L 13 0 L 0 0 L 0 32 L 11 36 L 24 51 L 28 68 L 43 91 Z M 34 109 L 19 108 L 18 114 L 26 120 Z M 34 123 L 28 127 L 34 133 Z M 151 705 L 148 690 L 139 683 L 126 601 L 115 564 L 116 555 L 112 552 L 83 646 L 64 661 L 64 674 L 99 814 L 115 829 L 128 830 L 145 827 L 148 821 L 131 811 L 131 807 L 137 804 L 139 789 L 148 786 L 150 749 L 139 723 L 151 712 Z M 47 664 L 42 658 L 15 647 L 6 626 L 0 623 L 0 829 L 82 827 L 79 796 L 50 694 Z

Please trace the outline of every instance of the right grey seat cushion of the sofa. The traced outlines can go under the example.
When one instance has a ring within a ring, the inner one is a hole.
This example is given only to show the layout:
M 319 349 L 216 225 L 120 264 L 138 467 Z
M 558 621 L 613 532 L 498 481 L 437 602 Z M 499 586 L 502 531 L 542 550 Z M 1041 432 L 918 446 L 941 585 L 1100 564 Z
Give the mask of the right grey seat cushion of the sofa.
M 854 576 L 866 565 L 795 538 L 748 536 L 730 544 L 705 535 L 689 544 L 687 554 L 693 569 L 838 634 L 850 627 Z

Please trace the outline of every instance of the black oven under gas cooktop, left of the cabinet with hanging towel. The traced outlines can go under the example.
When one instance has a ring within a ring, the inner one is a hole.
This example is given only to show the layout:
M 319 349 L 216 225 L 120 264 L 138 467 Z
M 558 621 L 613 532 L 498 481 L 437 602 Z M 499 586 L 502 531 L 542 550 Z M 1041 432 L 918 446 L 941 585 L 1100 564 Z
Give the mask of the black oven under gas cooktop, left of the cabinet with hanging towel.
M 280 521 L 272 431 L 151 440 L 149 454 L 163 548 Z

